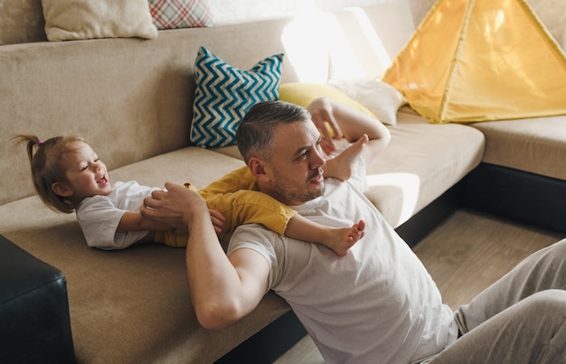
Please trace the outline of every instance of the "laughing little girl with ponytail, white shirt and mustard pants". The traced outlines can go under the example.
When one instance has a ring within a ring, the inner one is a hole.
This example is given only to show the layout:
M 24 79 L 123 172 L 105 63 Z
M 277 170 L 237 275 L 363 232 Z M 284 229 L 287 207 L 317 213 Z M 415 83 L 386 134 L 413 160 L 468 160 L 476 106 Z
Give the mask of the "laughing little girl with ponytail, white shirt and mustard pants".
M 43 142 L 35 135 L 14 138 L 27 143 L 33 186 L 41 200 L 52 210 L 75 211 L 90 247 L 121 249 L 147 241 L 186 246 L 186 236 L 140 214 L 144 199 L 156 188 L 133 181 L 112 185 L 106 165 L 84 139 L 57 136 Z M 328 160 L 325 177 L 348 178 L 350 164 L 362 147 L 359 142 Z M 254 185 L 255 179 L 246 166 L 198 191 L 207 201 L 217 233 L 227 234 L 238 225 L 259 223 L 290 238 L 323 244 L 339 256 L 363 238 L 363 221 L 352 227 L 328 228 L 260 191 L 250 191 L 256 189 Z

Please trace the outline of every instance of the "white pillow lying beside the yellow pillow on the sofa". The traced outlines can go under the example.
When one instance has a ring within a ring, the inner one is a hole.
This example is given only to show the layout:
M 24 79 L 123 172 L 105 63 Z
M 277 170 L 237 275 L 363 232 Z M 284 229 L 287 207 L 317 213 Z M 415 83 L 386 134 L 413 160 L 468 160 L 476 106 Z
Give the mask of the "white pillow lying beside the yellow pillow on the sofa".
M 390 126 L 397 125 L 397 110 L 407 103 L 401 92 L 380 79 L 331 79 L 328 83 Z

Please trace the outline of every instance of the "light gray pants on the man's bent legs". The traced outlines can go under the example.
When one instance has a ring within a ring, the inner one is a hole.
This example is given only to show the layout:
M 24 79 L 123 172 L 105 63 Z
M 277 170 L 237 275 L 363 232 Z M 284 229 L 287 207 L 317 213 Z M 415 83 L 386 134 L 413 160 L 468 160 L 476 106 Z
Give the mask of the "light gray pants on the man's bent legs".
M 461 337 L 430 362 L 566 362 L 566 239 L 527 257 L 455 319 Z

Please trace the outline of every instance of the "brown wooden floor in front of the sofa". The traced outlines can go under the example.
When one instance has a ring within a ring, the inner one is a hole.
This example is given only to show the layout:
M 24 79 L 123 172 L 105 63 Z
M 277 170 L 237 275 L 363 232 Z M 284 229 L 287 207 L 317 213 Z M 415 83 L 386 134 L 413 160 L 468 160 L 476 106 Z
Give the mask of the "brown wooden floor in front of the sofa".
M 429 269 L 445 302 L 456 309 L 524 257 L 561 238 L 563 234 L 554 231 L 463 209 L 413 250 Z M 307 336 L 276 361 L 288 363 L 317 364 L 324 360 Z

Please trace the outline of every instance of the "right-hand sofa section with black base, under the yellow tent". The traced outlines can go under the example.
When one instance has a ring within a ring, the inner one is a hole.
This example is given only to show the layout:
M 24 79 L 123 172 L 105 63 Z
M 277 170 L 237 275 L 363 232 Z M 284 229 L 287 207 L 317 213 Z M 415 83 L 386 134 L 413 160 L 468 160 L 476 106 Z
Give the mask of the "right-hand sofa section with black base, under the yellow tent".
M 467 205 L 566 233 L 566 117 L 473 126 L 486 136 L 486 151 L 467 176 Z

